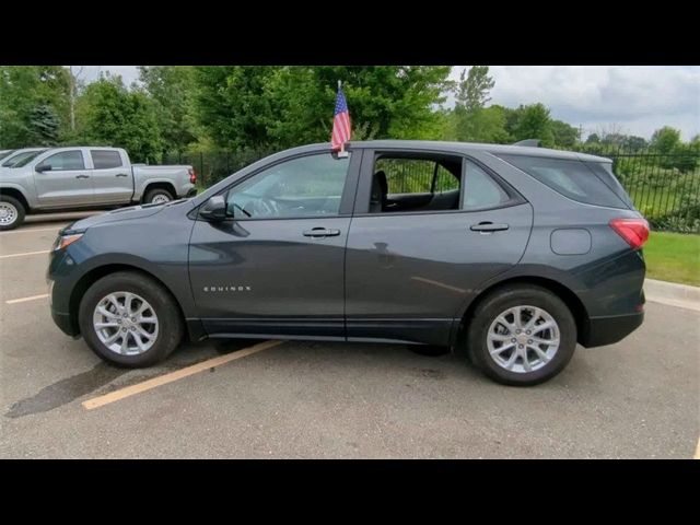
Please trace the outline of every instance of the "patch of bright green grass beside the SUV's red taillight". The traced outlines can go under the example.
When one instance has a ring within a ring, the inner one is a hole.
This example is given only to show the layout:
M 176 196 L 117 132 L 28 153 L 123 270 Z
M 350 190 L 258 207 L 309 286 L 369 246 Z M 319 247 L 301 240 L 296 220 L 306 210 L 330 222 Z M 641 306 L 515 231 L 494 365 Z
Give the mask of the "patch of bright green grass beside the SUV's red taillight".
M 644 260 L 651 279 L 700 287 L 700 235 L 652 232 Z

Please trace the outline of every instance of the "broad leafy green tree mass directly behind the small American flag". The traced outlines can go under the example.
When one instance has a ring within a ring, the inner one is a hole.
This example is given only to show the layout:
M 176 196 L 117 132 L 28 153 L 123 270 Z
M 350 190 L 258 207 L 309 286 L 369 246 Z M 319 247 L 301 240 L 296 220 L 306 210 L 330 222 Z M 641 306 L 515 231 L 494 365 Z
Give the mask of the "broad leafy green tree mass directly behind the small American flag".
M 199 118 L 220 147 L 282 148 L 330 140 L 337 82 L 353 135 L 438 138 L 450 67 L 197 67 Z

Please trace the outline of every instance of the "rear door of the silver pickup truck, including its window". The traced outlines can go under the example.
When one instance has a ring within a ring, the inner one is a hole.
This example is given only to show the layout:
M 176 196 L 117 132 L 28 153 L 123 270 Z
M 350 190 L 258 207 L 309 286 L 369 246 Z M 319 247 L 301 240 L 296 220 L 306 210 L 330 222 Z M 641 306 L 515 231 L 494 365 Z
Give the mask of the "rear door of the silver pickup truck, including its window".
M 126 153 L 119 150 L 90 149 L 95 205 L 126 203 L 133 194 L 133 176 Z

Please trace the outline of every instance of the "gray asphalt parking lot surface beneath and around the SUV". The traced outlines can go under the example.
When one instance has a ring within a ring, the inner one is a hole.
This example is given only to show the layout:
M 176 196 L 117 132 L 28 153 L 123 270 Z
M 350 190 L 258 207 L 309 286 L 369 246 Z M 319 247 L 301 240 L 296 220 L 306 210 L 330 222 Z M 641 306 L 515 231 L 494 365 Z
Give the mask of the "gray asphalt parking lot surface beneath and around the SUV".
M 366 343 L 188 343 L 158 368 L 126 371 L 50 319 L 47 250 L 78 217 L 0 233 L 0 457 L 696 454 L 697 311 L 649 302 L 625 341 L 580 347 L 533 388 L 494 384 L 453 354 Z

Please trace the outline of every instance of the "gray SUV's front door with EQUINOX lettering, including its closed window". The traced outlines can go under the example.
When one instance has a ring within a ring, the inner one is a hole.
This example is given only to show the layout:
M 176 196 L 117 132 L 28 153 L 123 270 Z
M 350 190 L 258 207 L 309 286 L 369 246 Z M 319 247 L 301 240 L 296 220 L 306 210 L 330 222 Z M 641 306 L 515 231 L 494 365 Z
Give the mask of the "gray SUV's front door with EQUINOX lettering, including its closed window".
M 361 156 L 277 162 L 221 194 L 230 219 L 196 221 L 189 279 L 210 335 L 345 337 L 345 246 Z

